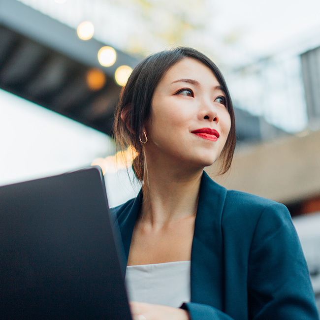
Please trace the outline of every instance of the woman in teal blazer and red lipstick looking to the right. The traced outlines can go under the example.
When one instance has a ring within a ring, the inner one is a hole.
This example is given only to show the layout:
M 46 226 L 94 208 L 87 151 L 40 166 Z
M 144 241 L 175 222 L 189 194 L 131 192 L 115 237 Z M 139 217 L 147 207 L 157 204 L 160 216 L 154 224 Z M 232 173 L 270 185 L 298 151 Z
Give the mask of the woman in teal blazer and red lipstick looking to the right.
M 224 78 L 191 48 L 138 64 L 116 111 L 116 138 L 132 145 L 136 199 L 115 208 L 132 314 L 139 320 L 318 319 L 308 269 L 287 208 L 227 191 L 235 148 Z

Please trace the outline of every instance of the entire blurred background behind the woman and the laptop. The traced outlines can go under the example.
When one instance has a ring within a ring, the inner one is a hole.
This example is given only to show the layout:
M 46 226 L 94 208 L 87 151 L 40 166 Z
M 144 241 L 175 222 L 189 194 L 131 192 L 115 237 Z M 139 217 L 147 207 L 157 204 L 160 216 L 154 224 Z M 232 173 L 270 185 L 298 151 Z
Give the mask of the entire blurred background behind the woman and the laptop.
M 288 206 L 320 304 L 319 12 L 315 0 L 0 0 L 0 185 L 97 163 L 111 206 L 134 196 L 110 137 L 121 88 L 148 54 L 192 46 L 223 71 L 237 121 L 230 173 L 207 171 Z

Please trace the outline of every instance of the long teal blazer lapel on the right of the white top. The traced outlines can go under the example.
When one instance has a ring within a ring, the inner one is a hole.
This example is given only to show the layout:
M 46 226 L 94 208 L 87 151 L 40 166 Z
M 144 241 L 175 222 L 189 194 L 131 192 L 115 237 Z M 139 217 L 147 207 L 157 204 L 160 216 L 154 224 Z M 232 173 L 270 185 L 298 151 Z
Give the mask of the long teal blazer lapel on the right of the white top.
M 191 301 L 224 308 L 221 218 L 226 189 L 203 172 L 191 253 Z

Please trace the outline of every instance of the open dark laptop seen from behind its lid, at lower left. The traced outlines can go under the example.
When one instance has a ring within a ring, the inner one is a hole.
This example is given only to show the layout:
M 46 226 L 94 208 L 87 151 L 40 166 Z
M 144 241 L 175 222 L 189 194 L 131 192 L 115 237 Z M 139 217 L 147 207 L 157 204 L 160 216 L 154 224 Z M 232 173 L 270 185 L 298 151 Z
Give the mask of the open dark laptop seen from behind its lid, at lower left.
M 119 235 L 99 167 L 0 187 L 0 319 L 131 320 Z

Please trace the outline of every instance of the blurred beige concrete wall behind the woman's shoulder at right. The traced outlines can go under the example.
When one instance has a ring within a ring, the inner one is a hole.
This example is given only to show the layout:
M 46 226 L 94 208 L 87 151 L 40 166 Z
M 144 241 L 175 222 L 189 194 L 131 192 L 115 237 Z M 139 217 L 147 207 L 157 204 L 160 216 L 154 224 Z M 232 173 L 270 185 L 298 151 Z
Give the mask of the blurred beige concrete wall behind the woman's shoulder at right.
M 230 172 L 216 176 L 215 165 L 206 171 L 227 189 L 279 202 L 290 203 L 319 195 L 320 131 L 239 148 Z

